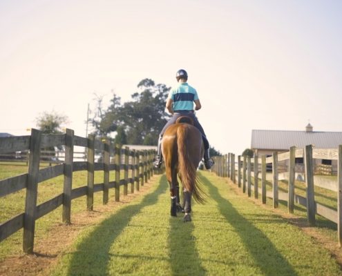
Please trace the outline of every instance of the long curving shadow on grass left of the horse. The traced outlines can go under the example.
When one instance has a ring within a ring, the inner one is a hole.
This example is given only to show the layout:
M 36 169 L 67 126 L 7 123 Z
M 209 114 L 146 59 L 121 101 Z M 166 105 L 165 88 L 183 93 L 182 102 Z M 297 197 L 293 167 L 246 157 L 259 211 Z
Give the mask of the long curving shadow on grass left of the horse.
M 167 190 L 166 183 L 166 177 L 161 177 L 158 188 L 146 195 L 140 204 L 126 206 L 102 221 L 70 255 L 67 275 L 107 275 L 113 242 L 142 208 L 158 201 L 159 195 Z

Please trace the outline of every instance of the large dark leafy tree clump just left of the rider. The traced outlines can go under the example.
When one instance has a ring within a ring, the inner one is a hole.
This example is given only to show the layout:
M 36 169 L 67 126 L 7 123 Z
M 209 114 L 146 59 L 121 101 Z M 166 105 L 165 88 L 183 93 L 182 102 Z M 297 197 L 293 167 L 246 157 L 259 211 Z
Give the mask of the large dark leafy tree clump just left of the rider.
M 155 84 L 152 79 L 142 79 L 137 84 L 139 92 L 131 95 L 132 100 L 121 104 L 120 97 L 113 94 L 111 105 L 103 108 L 103 97 L 97 96 L 97 110 L 91 123 L 95 134 L 106 137 L 122 127 L 128 144 L 156 145 L 158 136 L 169 119 L 165 112 L 168 88 L 164 84 Z M 117 131 L 119 135 L 119 131 Z

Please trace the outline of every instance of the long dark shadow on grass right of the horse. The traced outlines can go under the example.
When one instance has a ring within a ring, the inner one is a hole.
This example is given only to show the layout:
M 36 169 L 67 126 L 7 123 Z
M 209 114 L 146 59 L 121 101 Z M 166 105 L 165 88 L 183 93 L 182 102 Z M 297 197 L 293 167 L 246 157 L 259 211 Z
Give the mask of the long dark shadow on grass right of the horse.
M 254 259 L 254 263 L 260 268 L 263 275 L 296 275 L 294 268 L 278 252 L 267 236 L 245 219 L 243 215 L 240 215 L 234 206 L 220 195 L 218 188 L 213 186 L 207 178 L 201 176 L 201 180 L 209 189 L 210 197 L 218 203 L 221 215 L 227 219 L 228 223 L 236 230 L 236 233 L 240 235 L 249 255 Z

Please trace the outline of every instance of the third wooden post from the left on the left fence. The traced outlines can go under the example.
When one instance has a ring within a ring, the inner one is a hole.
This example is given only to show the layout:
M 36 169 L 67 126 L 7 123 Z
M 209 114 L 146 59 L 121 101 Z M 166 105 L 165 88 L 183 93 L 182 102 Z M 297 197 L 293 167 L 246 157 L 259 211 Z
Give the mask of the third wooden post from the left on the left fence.
M 94 169 L 95 169 L 95 136 L 88 135 L 88 177 L 87 177 L 87 194 L 86 208 L 93 210 L 94 205 Z

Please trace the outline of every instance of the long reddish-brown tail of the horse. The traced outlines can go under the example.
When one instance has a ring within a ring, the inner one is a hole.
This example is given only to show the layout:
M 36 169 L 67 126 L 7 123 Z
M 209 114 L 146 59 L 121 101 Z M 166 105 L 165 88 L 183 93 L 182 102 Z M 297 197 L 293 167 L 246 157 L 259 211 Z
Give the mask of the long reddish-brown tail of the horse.
M 189 135 L 189 128 L 180 126 L 177 129 L 177 144 L 178 144 L 178 169 L 180 172 L 180 178 L 183 186 L 183 190 L 187 190 L 192 193 L 193 198 L 198 203 L 205 203 L 205 192 L 200 187 L 200 181 L 196 174 L 196 166 L 190 158 L 187 150 L 187 136 Z M 200 150 L 200 149 L 199 149 Z

